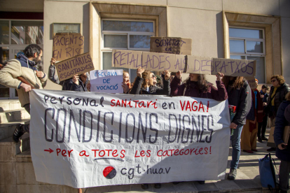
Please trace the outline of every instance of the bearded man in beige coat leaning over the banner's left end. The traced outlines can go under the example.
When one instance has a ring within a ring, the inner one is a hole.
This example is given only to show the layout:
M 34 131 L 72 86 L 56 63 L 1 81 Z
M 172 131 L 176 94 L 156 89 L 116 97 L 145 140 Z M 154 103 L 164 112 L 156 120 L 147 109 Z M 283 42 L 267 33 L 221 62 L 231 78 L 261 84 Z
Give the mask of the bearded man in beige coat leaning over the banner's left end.
M 28 92 L 32 86 L 43 89 L 46 86 L 48 76 L 38 71 L 36 66 L 41 62 L 43 51 L 39 45 L 30 44 L 25 48 L 25 55 L 19 55 L 17 59 L 11 59 L 0 71 L 0 84 L 13 87 L 18 92 L 21 106 L 30 114 L 30 101 Z M 21 81 L 18 78 L 24 78 Z M 26 83 L 23 83 L 25 81 Z M 32 117 L 33 118 L 33 117 Z M 18 124 L 14 133 L 13 141 L 19 142 L 19 138 L 29 132 L 29 124 Z

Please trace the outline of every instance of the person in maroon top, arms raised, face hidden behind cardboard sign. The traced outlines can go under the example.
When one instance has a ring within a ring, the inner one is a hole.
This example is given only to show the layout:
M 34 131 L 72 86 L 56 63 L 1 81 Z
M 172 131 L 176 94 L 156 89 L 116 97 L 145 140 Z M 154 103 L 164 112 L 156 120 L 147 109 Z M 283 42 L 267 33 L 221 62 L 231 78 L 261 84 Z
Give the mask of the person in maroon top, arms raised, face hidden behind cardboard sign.
M 226 93 L 226 87 L 223 85 L 222 73 L 216 75 L 216 87 L 212 83 L 208 83 L 205 80 L 205 76 L 197 73 L 190 73 L 185 83 L 179 85 L 181 81 L 181 71 L 177 72 L 177 75 L 170 83 L 172 96 L 191 96 L 199 98 L 214 99 L 216 101 L 224 101 L 228 98 Z

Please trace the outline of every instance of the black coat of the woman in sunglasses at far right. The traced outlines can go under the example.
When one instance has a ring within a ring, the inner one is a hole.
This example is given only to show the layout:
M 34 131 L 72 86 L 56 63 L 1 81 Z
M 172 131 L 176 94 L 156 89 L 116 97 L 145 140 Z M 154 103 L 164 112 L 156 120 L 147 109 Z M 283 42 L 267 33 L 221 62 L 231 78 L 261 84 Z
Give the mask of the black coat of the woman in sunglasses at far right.
M 269 96 L 268 101 L 267 101 L 267 110 L 268 110 L 269 117 L 276 117 L 278 108 L 279 108 L 280 104 L 282 103 L 282 101 L 285 101 L 285 96 L 290 91 L 290 87 L 286 83 L 277 87 L 275 98 L 274 98 L 274 110 L 272 112 L 270 110 L 271 109 L 270 107 L 272 106 L 271 96 L 272 96 L 273 91 L 274 91 L 274 87 L 272 86 L 270 89 L 270 96 Z

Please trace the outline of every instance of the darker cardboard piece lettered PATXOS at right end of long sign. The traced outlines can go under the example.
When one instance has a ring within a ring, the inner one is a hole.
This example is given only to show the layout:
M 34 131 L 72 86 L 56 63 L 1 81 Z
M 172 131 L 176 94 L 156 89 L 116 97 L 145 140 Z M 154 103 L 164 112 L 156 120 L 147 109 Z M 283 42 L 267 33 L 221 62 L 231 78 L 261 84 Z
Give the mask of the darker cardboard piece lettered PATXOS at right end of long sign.
M 212 74 L 223 73 L 226 76 L 256 76 L 256 60 L 212 59 Z

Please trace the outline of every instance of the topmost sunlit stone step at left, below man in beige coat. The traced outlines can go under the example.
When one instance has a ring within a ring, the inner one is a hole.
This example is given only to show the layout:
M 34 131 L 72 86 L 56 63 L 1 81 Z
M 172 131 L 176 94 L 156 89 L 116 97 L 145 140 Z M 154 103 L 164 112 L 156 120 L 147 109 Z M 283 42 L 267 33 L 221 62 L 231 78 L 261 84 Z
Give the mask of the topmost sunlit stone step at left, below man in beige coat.
M 15 110 L 5 110 L 0 112 L 0 124 L 7 122 L 14 122 L 16 120 L 29 119 L 30 115 L 24 108 Z

